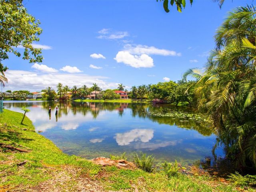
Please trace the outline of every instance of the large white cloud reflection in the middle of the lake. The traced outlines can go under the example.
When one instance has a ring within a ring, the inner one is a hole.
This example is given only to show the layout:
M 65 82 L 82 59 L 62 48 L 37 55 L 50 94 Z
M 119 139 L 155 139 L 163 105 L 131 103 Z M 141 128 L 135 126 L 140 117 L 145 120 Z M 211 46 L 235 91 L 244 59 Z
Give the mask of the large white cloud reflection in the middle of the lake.
M 117 133 L 114 137 L 118 145 L 128 145 L 130 142 L 141 141 L 148 142 L 154 136 L 152 129 L 133 129 L 125 133 Z

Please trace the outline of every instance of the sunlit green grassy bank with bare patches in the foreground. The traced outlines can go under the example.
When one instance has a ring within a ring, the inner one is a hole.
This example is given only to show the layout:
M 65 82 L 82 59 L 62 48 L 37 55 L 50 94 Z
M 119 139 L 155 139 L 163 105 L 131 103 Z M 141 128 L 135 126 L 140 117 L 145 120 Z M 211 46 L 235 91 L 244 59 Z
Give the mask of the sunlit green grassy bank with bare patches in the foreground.
M 34 131 L 22 114 L 4 110 L 0 114 L 0 143 L 30 150 L 20 152 L 0 146 L 0 191 L 159 191 L 230 192 L 235 186 L 208 175 L 177 174 L 168 178 L 162 171 L 147 173 L 101 167 L 89 160 L 69 156 Z M 26 164 L 18 166 L 20 162 Z M 253 191 L 248 189 L 248 191 Z

